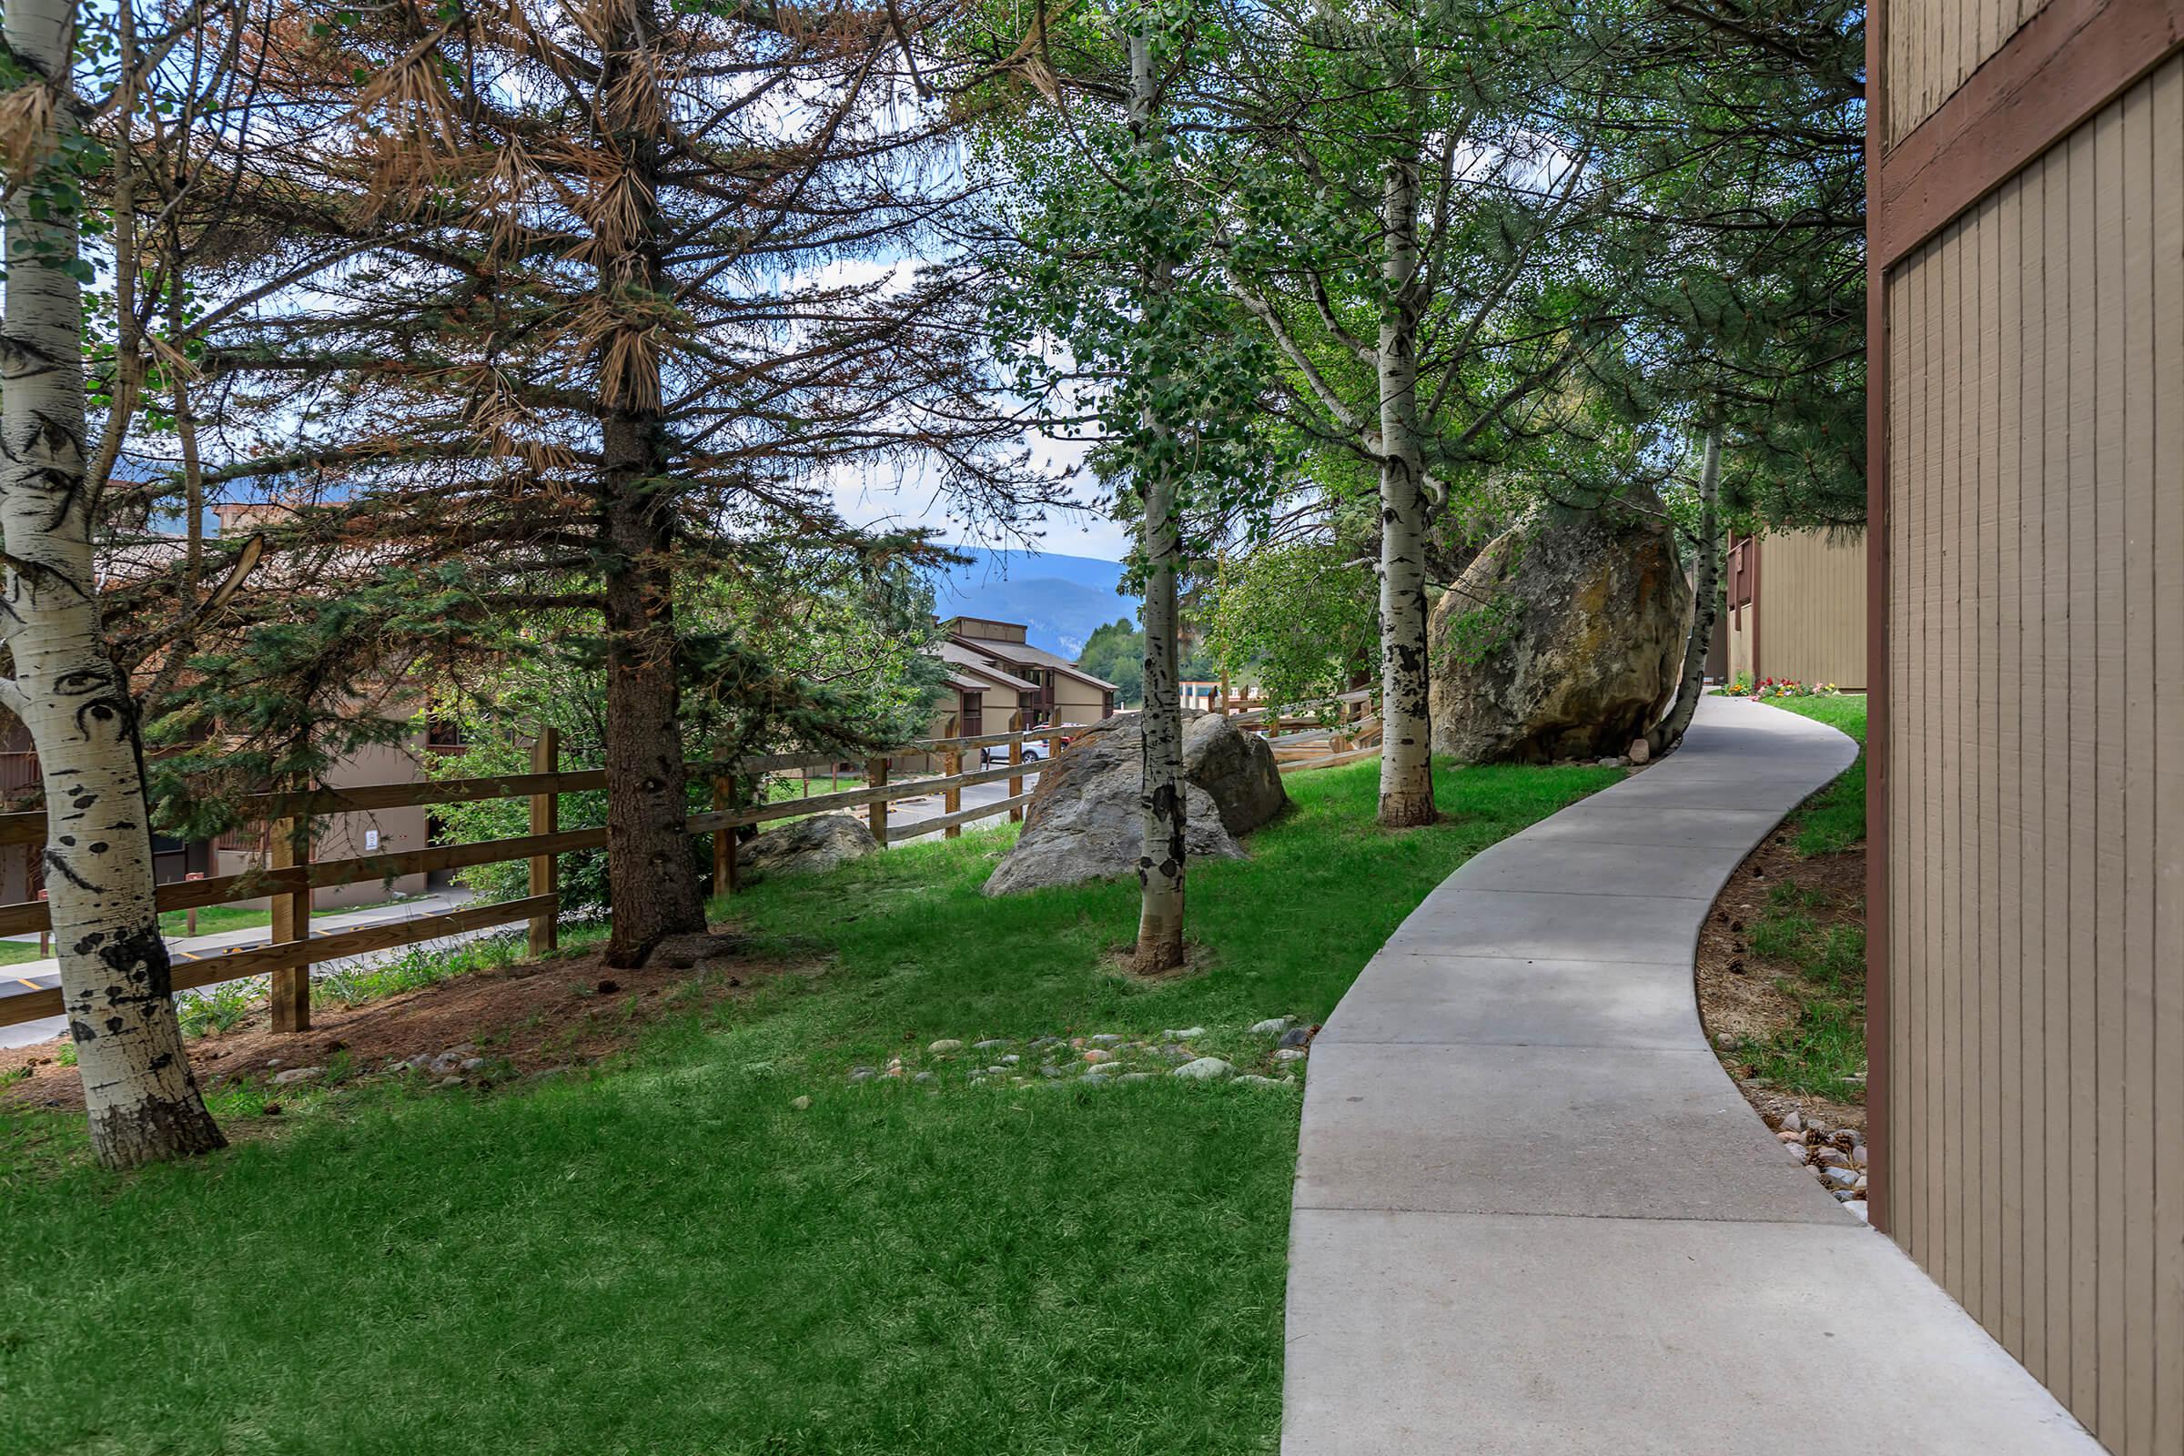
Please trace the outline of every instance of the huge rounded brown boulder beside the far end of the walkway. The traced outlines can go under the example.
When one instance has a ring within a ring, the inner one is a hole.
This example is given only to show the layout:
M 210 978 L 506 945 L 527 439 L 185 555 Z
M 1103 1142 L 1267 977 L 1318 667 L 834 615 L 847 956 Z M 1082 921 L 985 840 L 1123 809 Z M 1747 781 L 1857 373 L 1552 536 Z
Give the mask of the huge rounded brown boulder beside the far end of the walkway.
M 1623 753 L 1675 692 L 1688 616 L 1666 522 L 1614 504 L 1535 513 L 1433 609 L 1435 751 L 1470 764 Z

